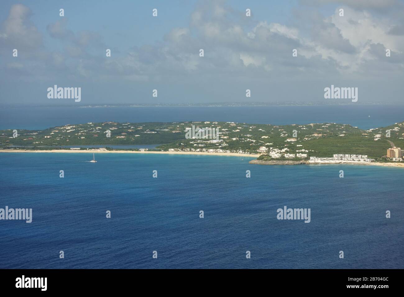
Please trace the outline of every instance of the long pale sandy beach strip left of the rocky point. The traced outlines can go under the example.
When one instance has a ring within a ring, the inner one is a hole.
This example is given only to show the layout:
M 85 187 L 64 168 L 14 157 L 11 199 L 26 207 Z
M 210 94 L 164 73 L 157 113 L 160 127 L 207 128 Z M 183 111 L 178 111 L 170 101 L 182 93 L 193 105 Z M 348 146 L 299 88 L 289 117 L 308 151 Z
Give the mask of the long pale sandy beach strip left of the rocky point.
M 259 154 L 241 153 L 208 153 L 208 152 L 158 152 L 158 151 L 72 151 L 72 150 L 0 150 L 0 153 L 118 153 L 118 154 L 168 154 L 168 155 L 211 155 L 211 156 L 232 156 L 232 157 L 252 157 L 257 158 Z

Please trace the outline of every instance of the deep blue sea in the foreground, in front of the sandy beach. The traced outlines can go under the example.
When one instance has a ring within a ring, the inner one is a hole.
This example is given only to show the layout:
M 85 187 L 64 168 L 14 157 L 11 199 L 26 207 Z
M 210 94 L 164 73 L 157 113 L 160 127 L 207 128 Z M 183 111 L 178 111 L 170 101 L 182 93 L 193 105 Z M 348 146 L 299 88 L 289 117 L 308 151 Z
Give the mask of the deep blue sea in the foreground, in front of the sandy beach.
M 92 157 L 0 153 L 0 208 L 33 209 L 31 224 L 0 221 L 0 268 L 404 268 L 404 169 Z M 284 205 L 311 222 L 277 220 Z

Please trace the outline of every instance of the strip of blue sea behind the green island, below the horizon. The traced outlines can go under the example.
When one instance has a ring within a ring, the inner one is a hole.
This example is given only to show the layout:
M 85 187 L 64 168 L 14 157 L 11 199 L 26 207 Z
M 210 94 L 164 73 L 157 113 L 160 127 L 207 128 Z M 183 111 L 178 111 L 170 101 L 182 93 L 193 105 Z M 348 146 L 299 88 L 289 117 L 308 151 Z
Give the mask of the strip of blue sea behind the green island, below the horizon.
M 370 129 L 404 121 L 404 105 L 0 108 L 0 129 L 42 130 L 103 121 L 231 121 L 273 125 L 327 122 Z

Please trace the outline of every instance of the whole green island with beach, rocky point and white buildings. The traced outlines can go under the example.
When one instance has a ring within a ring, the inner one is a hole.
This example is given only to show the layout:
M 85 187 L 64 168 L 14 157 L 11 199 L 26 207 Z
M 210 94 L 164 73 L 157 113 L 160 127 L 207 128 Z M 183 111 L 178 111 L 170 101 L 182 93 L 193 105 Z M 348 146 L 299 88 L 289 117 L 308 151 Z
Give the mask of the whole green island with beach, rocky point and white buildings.
M 187 138 L 190 129 L 217 129 L 217 138 Z M 387 131 L 387 132 L 386 132 Z M 109 135 L 108 135 L 109 134 Z M 388 137 L 389 136 L 389 137 Z M 158 144 L 155 148 L 137 145 Z M 126 149 L 110 146 L 125 145 Z M 78 146 L 71 148 L 70 146 Z M 80 146 L 87 146 L 86 148 Z M 88 147 L 90 146 L 90 147 Z M 71 124 L 45 130 L 0 130 L 0 151 L 98 151 L 223 154 L 257 157 L 250 163 L 402 164 L 404 122 L 362 130 L 349 124 L 292 125 L 220 121 Z

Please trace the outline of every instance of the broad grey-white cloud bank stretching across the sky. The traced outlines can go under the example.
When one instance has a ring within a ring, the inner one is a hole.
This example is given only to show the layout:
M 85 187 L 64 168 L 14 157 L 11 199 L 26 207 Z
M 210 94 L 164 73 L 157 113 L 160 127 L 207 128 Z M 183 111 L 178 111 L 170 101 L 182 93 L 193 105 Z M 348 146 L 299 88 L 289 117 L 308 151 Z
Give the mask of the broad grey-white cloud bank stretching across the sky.
M 353 80 L 364 74 L 377 77 L 379 71 L 386 77 L 402 73 L 404 30 L 400 19 L 391 19 L 393 13 L 386 17 L 368 10 L 387 7 L 385 2 L 326 2 L 341 4 L 344 17 L 339 17 L 338 9 L 322 15 L 302 8 L 303 17 L 294 23 L 251 17 L 246 26 L 245 13 L 232 8 L 231 2 L 201 1 L 190 14 L 189 25 L 171 28 L 154 43 L 120 48 L 113 59 L 105 59 L 107 46 L 101 33 L 86 28 L 73 31 L 67 18 L 62 18 L 46 27 L 48 36 L 62 45 L 61 50 L 42 49 L 29 63 L 8 63 L 6 67 L 18 73 L 18 78 L 25 71 L 49 79 L 60 75 L 83 82 L 107 79 L 140 84 L 187 84 L 200 79 L 212 85 L 268 79 L 288 84 L 291 79 L 320 82 L 324 77 Z M 386 2 L 400 7 L 396 1 Z M 320 5 L 315 0 L 301 3 Z M 0 41 L 43 46 L 42 35 L 29 21 L 30 14 L 22 4 L 12 6 L 2 24 Z M 199 56 L 201 48 L 204 57 Z M 297 57 L 292 57 L 293 49 L 297 49 Z

